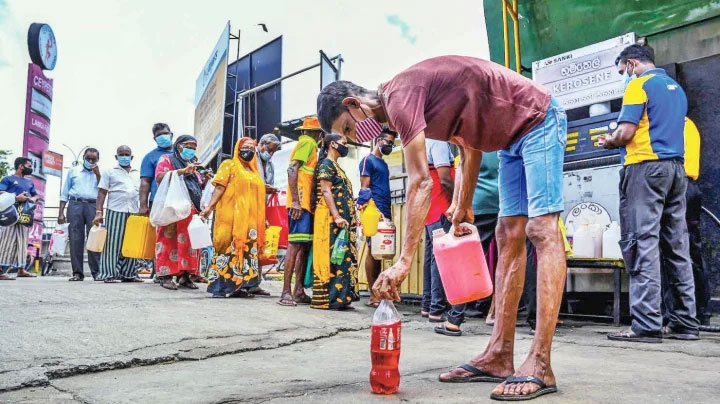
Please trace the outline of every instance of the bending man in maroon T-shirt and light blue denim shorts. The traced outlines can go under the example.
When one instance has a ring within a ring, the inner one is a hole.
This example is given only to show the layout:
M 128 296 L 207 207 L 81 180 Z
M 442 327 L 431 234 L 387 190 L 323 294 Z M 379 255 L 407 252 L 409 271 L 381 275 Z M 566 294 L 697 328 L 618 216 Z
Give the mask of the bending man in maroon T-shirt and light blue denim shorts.
M 484 353 L 441 381 L 500 382 L 492 398 L 532 399 L 557 391 L 550 350 L 560 310 L 566 265 L 558 219 L 563 210 L 562 163 L 567 117 L 547 89 L 496 63 L 440 56 L 399 73 L 377 89 L 336 81 L 322 89 L 318 118 L 326 132 L 352 141 L 377 137 L 382 124 L 403 143 L 408 173 L 408 220 L 401 256 L 373 286 L 382 299 L 399 299 L 410 273 L 429 208 L 432 180 L 425 140 L 460 148 L 452 222 L 472 222 L 472 196 L 483 151 L 500 151 L 500 260 L 496 321 Z M 513 364 L 515 321 L 522 295 L 525 239 L 538 253 L 538 324 L 523 364 Z

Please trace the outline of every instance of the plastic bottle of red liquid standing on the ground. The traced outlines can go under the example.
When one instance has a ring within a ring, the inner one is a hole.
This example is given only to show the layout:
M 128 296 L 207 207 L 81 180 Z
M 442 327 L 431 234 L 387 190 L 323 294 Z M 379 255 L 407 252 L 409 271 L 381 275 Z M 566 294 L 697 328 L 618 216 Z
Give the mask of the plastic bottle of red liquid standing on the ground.
M 375 394 L 394 394 L 400 387 L 400 314 L 390 300 L 380 302 L 372 323 L 370 387 Z

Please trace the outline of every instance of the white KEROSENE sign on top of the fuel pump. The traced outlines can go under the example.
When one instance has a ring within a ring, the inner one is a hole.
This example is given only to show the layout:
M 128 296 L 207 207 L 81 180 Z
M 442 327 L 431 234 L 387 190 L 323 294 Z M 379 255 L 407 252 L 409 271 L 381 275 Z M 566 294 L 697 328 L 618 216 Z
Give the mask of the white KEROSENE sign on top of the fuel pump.
M 533 62 L 533 80 L 566 109 L 620 98 L 625 91 L 615 59 L 635 43 L 635 33 Z

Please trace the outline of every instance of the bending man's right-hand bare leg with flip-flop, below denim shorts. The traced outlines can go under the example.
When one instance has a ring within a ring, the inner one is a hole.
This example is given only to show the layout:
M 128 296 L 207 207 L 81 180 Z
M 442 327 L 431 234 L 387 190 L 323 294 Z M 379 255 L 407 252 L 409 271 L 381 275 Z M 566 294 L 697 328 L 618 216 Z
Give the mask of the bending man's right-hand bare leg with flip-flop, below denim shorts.
M 555 386 L 555 375 L 550 366 L 550 348 L 567 273 L 558 216 L 559 213 L 553 213 L 532 218 L 527 225 L 528 237 L 538 256 L 537 328 L 528 357 L 514 373 L 515 376 L 535 376 L 547 386 Z M 493 390 L 493 394 L 527 395 L 538 389 L 539 386 L 534 383 L 507 386 L 503 383 Z

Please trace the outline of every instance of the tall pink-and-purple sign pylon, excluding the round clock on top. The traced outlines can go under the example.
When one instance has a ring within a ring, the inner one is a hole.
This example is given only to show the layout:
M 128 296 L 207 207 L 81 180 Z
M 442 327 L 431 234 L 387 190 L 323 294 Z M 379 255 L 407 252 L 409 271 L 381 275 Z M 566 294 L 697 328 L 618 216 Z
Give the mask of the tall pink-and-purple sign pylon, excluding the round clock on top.
M 45 177 L 42 174 L 42 156 L 50 141 L 50 111 L 53 96 L 53 80 L 43 74 L 40 66 L 28 64 L 28 82 L 25 99 L 25 131 L 23 156 L 33 160 L 31 177 L 40 197 L 35 208 L 35 224 L 30 232 L 30 244 L 42 242 L 42 224 L 45 208 Z M 36 166 L 39 165 L 38 167 Z M 34 248 L 30 250 L 34 254 Z

